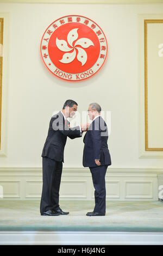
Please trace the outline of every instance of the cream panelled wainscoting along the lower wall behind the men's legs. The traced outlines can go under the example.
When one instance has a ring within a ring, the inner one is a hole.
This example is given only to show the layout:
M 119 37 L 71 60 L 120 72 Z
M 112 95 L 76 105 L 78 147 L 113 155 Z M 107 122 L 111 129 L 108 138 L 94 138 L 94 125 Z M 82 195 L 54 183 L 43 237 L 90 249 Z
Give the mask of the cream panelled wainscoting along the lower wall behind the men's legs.
M 158 200 L 163 185 L 161 168 L 109 168 L 106 172 L 106 200 Z M 3 199 L 40 200 L 42 168 L 1 167 Z M 64 168 L 61 200 L 94 200 L 89 168 Z

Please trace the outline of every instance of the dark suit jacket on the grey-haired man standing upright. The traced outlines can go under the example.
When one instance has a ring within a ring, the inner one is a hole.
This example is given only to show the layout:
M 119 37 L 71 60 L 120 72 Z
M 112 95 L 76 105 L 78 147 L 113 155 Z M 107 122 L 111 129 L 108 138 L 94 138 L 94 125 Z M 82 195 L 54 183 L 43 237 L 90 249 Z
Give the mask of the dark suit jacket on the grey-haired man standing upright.
M 83 166 L 96 167 L 95 159 L 99 159 L 101 165 L 111 165 L 111 157 L 108 149 L 108 127 L 104 119 L 99 116 L 92 121 L 86 132 L 83 142 Z

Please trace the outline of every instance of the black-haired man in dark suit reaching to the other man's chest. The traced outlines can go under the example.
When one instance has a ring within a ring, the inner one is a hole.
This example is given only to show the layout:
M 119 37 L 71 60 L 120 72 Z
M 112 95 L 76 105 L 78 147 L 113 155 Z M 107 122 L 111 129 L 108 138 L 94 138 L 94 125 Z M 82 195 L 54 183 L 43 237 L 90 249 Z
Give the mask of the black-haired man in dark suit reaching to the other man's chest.
M 57 216 L 69 214 L 59 207 L 59 188 L 61 182 L 62 162 L 67 137 L 82 137 L 86 125 L 70 128 L 66 118 L 73 117 L 77 111 L 77 102 L 67 100 L 62 111 L 53 115 L 49 123 L 48 135 L 42 150 L 42 196 L 40 203 L 41 215 Z

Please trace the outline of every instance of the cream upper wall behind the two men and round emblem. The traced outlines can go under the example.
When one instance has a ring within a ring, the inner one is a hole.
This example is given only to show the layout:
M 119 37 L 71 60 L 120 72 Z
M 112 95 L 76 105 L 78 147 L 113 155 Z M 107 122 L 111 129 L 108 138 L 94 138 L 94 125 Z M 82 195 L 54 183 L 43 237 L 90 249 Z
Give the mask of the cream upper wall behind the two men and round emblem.
M 163 13 L 163 5 L 0 4 L 10 14 L 7 157 L 0 167 L 41 167 L 49 120 L 66 99 L 82 112 L 92 101 L 111 111 L 112 168 L 162 167 L 162 159 L 139 159 L 139 65 L 137 14 Z M 87 16 L 103 29 L 109 56 L 103 69 L 80 83 L 61 81 L 45 68 L 40 41 L 55 19 Z M 82 167 L 83 140 L 67 140 L 64 167 Z

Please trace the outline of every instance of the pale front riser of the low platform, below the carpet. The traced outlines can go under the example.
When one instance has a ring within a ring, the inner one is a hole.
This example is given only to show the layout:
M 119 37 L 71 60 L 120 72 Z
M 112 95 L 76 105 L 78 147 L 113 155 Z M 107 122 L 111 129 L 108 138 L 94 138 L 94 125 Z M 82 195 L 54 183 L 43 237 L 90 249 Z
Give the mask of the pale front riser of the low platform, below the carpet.
M 4 231 L 0 245 L 163 245 L 163 233 Z

